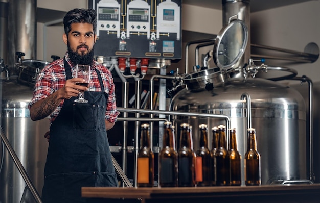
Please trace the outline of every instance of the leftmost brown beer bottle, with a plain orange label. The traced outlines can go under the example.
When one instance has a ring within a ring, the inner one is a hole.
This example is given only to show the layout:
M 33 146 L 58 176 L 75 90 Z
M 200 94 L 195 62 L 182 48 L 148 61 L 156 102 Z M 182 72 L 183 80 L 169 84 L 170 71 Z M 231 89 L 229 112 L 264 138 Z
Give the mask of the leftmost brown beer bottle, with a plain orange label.
M 150 145 L 150 125 L 141 125 L 140 149 L 137 161 L 138 187 L 153 187 L 154 182 L 154 154 Z

